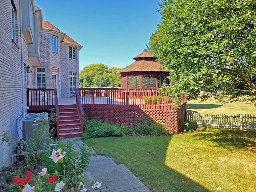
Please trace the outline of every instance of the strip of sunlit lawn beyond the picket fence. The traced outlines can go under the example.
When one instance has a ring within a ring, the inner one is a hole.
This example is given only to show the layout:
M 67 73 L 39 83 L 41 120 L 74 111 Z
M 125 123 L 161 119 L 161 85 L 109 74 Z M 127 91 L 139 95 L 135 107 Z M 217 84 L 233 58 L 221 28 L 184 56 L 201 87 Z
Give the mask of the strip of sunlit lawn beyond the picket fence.
M 246 102 L 218 103 L 214 100 L 200 102 L 200 100 L 191 100 L 187 103 L 187 112 L 198 112 L 201 114 L 255 114 L 256 106 Z

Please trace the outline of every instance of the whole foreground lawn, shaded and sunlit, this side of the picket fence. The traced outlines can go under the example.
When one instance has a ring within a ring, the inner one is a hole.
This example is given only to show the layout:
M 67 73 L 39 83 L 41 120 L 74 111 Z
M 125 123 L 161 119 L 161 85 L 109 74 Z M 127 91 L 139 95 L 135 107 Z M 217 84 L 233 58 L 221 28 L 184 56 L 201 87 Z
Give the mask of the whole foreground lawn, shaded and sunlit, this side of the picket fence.
M 256 131 L 206 128 L 192 134 L 94 138 L 96 153 L 119 152 L 124 164 L 152 192 L 256 191 Z M 111 190 L 111 184 L 110 188 Z

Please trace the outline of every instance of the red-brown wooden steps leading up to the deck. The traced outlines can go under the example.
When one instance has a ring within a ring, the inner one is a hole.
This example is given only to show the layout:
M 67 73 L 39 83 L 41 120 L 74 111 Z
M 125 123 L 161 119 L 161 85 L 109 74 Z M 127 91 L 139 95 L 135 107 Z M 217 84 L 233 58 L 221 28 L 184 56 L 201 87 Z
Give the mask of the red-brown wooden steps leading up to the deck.
M 59 105 L 57 139 L 74 138 L 82 135 L 80 118 L 76 105 Z

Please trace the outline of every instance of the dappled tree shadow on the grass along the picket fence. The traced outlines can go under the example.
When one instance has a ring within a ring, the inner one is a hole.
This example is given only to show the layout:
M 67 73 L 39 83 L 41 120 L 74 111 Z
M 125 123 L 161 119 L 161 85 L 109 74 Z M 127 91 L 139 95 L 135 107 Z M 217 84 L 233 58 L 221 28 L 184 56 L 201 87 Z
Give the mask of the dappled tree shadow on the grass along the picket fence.
M 256 146 L 255 130 L 202 128 L 194 137 L 214 142 L 217 146 L 229 150 L 241 149 L 249 145 Z

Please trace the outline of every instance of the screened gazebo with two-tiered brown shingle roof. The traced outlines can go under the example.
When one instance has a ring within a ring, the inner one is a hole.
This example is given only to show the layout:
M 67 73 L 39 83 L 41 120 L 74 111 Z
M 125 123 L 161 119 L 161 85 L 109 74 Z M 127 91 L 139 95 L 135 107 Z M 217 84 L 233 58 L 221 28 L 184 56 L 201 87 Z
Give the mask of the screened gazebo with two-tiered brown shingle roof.
M 157 57 L 144 49 L 133 58 L 134 63 L 124 68 L 121 74 L 121 88 L 159 88 L 163 83 L 169 84 L 169 72 L 160 69 Z

